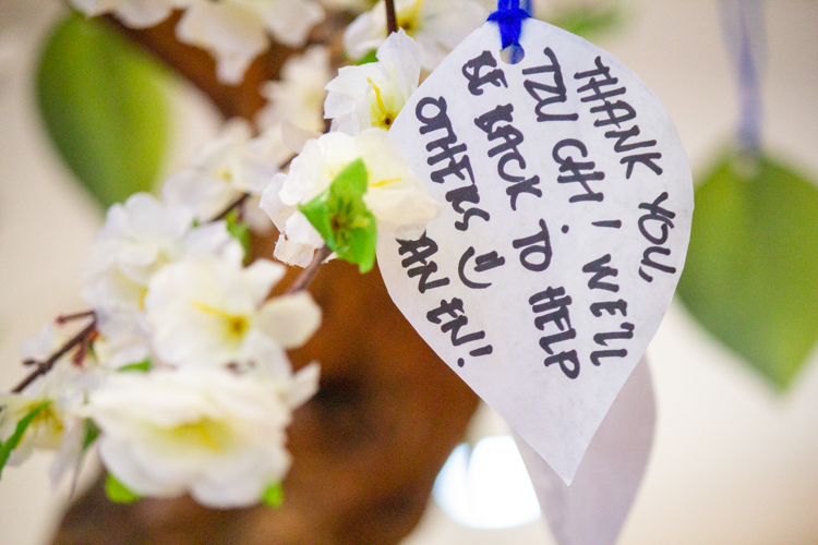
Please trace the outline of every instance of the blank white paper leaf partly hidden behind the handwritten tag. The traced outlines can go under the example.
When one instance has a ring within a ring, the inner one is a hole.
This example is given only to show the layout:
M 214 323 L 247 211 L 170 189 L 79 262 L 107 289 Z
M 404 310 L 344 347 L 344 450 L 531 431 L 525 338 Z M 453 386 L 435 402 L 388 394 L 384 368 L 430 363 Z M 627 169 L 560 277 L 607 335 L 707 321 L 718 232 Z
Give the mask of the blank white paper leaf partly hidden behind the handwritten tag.
M 650 457 L 655 403 L 642 359 L 593 436 L 570 486 L 519 435 L 517 447 L 560 545 L 613 545 Z

